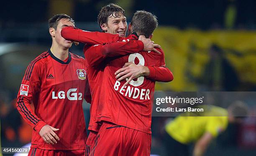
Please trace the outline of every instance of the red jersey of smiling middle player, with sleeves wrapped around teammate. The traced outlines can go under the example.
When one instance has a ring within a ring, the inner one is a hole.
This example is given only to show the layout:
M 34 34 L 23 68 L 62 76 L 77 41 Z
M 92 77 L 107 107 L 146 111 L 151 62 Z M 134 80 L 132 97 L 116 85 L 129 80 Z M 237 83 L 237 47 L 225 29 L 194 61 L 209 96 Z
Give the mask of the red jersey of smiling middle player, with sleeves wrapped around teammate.
M 106 59 L 141 51 L 143 50 L 143 42 L 137 41 L 138 37 L 136 35 L 130 35 L 129 37 L 124 38 L 110 33 L 88 32 L 76 27 L 64 27 L 61 30 L 61 36 L 66 40 L 87 44 L 84 46 L 84 56 L 87 62 L 87 74 L 92 94 L 88 129 L 98 131 L 100 127 L 96 123 L 96 114 L 100 98 L 101 84 L 104 83 L 102 82 L 102 77 L 106 66 Z M 148 66 L 148 69 L 150 70 L 150 74 L 147 77 L 148 79 L 160 82 L 169 82 L 173 79 L 172 72 L 166 67 Z

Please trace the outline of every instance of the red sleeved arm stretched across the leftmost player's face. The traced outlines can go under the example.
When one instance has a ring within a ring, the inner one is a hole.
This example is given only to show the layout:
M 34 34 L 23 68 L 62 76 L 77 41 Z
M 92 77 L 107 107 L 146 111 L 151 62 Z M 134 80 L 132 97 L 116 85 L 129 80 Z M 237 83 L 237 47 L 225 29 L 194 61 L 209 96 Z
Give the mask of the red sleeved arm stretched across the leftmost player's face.
M 89 32 L 72 26 L 62 28 L 61 36 L 66 40 L 89 45 L 117 42 L 123 39 L 123 37 L 119 37 L 118 35 L 105 32 Z

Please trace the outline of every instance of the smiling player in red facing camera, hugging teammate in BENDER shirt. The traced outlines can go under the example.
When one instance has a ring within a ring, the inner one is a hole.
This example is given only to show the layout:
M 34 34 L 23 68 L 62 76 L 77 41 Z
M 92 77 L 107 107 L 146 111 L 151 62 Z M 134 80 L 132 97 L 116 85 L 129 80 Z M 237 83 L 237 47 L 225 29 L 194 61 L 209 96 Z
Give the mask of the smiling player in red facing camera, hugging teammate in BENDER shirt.
M 116 13 L 119 13 L 119 14 L 116 14 Z M 125 36 L 124 34 L 126 33 L 127 23 L 126 23 L 126 18 L 124 17 L 124 10 L 118 5 L 110 4 L 103 7 L 98 16 L 98 22 L 100 26 L 108 25 L 108 27 L 103 28 L 104 32 L 118 34 L 120 37 L 118 37 L 118 35 L 110 35 L 108 33 L 87 32 L 87 31 L 79 30 L 74 27 L 66 27 L 63 30 L 61 30 L 61 35 L 67 40 L 83 42 L 87 44 L 99 44 L 104 42 L 103 45 L 98 45 L 97 47 L 94 47 L 91 45 L 86 45 L 84 47 L 84 54 L 88 63 L 88 66 L 87 66 L 88 79 L 90 82 L 91 91 L 93 91 L 92 105 L 90 109 L 91 119 L 89 124 L 89 129 L 91 133 L 89 134 L 89 137 L 87 139 L 87 145 L 89 145 L 87 146 L 88 149 L 92 147 L 94 143 L 94 139 L 97 135 L 97 131 L 99 129 L 99 125 L 95 122 L 95 116 L 96 116 L 97 104 L 100 96 L 99 91 L 102 83 L 102 74 L 105 68 L 104 60 L 108 57 L 113 57 L 120 54 L 131 54 L 131 53 L 141 51 L 143 49 L 143 47 L 141 47 L 141 49 L 137 48 L 141 46 L 140 42 L 137 41 L 137 44 L 136 44 L 136 41 L 132 42 L 132 40 L 138 39 L 136 35 L 130 36 L 130 39 L 128 39 L 129 41 L 123 38 L 123 36 Z M 122 32 L 122 33 L 118 33 L 118 32 Z M 144 42 L 145 51 L 154 50 L 153 47 L 157 46 L 157 45 L 153 45 L 150 39 L 146 39 L 143 37 L 141 38 L 144 41 L 146 40 L 150 41 L 148 42 L 147 46 L 148 47 L 151 46 L 150 47 L 151 49 L 145 49 L 146 44 Z M 117 41 L 128 41 L 128 42 L 117 42 Z M 105 42 L 117 42 L 117 43 L 109 44 Z M 135 67 L 133 69 L 136 69 L 136 70 L 133 70 L 133 74 L 135 75 L 148 76 L 148 78 L 152 78 L 158 81 L 166 82 L 166 81 L 170 81 L 169 79 L 173 78 L 172 72 L 170 72 L 169 69 L 164 67 L 140 66 L 140 67 Z M 165 77 L 163 77 L 162 74 L 165 74 Z M 159 77 L 157 77 L 157 75 Z

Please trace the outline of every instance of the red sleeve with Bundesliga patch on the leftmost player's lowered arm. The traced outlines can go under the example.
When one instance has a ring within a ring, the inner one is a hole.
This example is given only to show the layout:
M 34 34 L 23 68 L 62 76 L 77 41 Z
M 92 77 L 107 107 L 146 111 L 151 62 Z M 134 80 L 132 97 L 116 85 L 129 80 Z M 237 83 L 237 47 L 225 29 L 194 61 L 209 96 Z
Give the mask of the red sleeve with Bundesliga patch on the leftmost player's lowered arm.
M 31 109 L 31 101 L 38 97 L 40 89 L 40 67 L 31 62 L 20 85 L 17 96 L 17 109 L 23 119 L 39 133 L 41 128 L 46 125 Z

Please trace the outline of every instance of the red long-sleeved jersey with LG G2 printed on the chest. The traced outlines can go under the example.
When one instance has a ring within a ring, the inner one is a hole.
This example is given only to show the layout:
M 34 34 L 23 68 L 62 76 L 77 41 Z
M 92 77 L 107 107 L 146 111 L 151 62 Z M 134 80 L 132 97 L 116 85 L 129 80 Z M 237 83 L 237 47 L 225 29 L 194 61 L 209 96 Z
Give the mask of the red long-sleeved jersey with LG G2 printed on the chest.
M 84 58 L 70 52 L 67 62 L 48 50 L 29 64 L 18 92 L 17 109 L 34 129 L 32 148 L 85 149 L 87 134 L 82 109 L 87 91 L 85 71 Z M 90 96 L 87 101 L 90 102 Z M 46 124 L 59 129 L 55 131 L 60 139 L 57 144 L 47 144 L 39 135 Z

